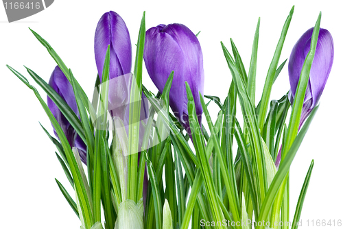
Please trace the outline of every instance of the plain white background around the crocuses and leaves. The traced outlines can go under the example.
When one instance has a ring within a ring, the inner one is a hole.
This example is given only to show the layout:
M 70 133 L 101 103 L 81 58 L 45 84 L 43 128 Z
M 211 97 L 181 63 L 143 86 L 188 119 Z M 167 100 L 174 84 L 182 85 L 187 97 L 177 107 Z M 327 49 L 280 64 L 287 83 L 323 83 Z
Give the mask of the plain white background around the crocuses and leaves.
M 303 207 L 303 228 L 307 228 L 307 219 L 343 219 L 343 80 L 340 71 L 343 62 L 343 17 L 340 1 L 56 0 L 43 12 L 14 23 L 7 22 L 5 10 L 0 6 L 0 228 L 80 228 L 80 221 L 54 180 L 58 178 L 71 191 L 56 160 L 56 149 L 38 124 L 40 121 L 45 128 L 52 130 L 49 120 L 34 93 L 5 67 L 5 64 L 14 67 L 32 84 L 34 80 L 25 71 L 24 64 L 46 81 L 49 80 L 56 63 L 28 27 L 51 44 L 91 96 L 97 75 L 94 33 L 97 21 L 104 12 L 113 10 L 126 21 L 132 47 L 137 42 L 143 10 L 146 11 L 147 29 L 160 23 L 183 23 L 195 34 L 201 30 L 198 38 L 204 55 L 205 95 L 217 95 L 224 101 L 231 76 L 220 41 L 230 47 L 229 39 L 233 38 L 248 69 L 252 39 L 257 19 L 261 16 L 258 100 L 283 23 L 292 5 L 296 5 L 294 16 L 280 63 L 289 57 L 296 40 L 314 26 L 320 10 L 321 27 L 328 29 L 333 36 L 335 60 L 321 97 L 320 109 L 291 167 L 291 219 L 311 159 L 314 159 L 315 165 Z M 151 91 L 156 91 L 146 71 L 143 84 Z M 288 90 L 286 65 L 274 84 L 271 98 L 279 99 Z M 40 93 L 45 98 L 45 93 L 41 90 Z M 217 112 L 215 106 L 211 106 L 211 109 L 213 114 Z

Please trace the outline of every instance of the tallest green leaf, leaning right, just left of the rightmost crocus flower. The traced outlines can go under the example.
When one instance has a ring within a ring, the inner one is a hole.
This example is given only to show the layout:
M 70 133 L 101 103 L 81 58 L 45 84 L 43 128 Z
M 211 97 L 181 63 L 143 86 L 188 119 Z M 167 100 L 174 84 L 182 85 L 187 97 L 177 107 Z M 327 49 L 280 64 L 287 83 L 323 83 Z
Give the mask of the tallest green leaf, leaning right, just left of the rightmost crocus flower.
M 287 16 L 285 25 L 283 25 L 283 29 L 281 32 L 278 45 L 276 46 L 272 62 L 270 63 L 270 67 L 268 69 L 267 77 L 265 78 L 265 84 L 264 84 L 263 93 L 261 97 L 261 107 L 259 109 L 259 128 L 261 130 L 261 133 L 263 133 L 263 124 L 265 121 L 265 116 L 267 115 L 270 93 L 272 92 L 272 84 L 274 82 L 276 68 L 280 60 L 281 50 L 283 48 L 283 43 L 285 42 L 289 24 L 291 23 L 291 20 L 292 20 L 293 12 L 294 12 L 294 6 L 292 7 L 291 11 L 289 12 L 289 15 Z

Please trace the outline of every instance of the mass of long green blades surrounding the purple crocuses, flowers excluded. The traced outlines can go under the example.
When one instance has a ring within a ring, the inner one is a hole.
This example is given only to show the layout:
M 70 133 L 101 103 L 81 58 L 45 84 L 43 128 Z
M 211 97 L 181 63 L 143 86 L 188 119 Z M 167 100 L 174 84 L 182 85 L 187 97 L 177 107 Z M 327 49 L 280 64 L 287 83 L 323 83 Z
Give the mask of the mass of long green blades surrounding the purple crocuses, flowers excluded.
M 143 214 L 140 210 L 135 211 L 141 214 L 139 218 L 142 219 L 144 228 L 186 229 L 190 224 L 191 228 L 202 228 L 202 219 L 206 222 L 215 221 L 215 226 L 210 224 L 209 228 L 244 229 L 250 228 L 250 226 L 239 224 L 226 226 L 222 223 L 217 224 L 217 222 L 223 222 L 223 219 L 241 222 L 253 218 L 256 221 L 270 221 L 271 224 L 289 221 L 289 168 L 317 110 L 315 108 L 312 111 L 303 128 L 298 132 L 309 70 L 316 51 L 321 16 L 320 14 L 314 27 L 311 49 L 300 75 L 287 127 L 285 123 L 290 108 L 287 94 L 279 100 L 272 101 L 270 101 L 270 94 L 272 85 L 286 62 L 278 67 L 293 10 L 294 8 L 287 16 L 283 26 L 265 79 L 263 95 L 257 106 L 255 106 L 255 85 L 259 21 L 248 73 L 233 40 L 231 40 L 233 56 L 222 43 L 224 57 L 233 80 L 224 104 L 218 97 L 204 96 L 210 99 L 206 104 L 204 97 L 200 95 L 209 131 L 198 122 L 193 95 L 186 82 L 192 140 L 189 140 L 187 134 L 183 134 L 182 127 L 169 112 L 169 91 L 174 72 L 169 75 L 161 94 L 154 95 L 147 91 L 142 84 L 145 41 L 145 15 L 143 14 L 134 66 L 134 80 L 137 84 L 132 84 L 137 85 L 137 88 L 132 86 L 130 101 L 140 101 L 141 95 L 144 93 L 151 104 L 150 117 L 145 123 L 142 149 L 139 149 L 141 102 L 130 103 L 130 128 L 126 139 L 128 152 L 141 151 L 141 156 L 134 153 L 123 156 L 123 149 L 119 149 L 117 144 L 119 144 L 118 138 L 125 138 L 126 134 L 120 135 L 113 132 L 113 139 L 108 142 L 111 133 L 104 127 L 107 124 L 110 49 L 108 48 L 106 53 L 103 83 L 99 86 L 96 109 L 91 105 L 73 73 L 62 62 L 56 51 L 46 40 L 32 31 L 40 43 L 47 48 L 51 57 L 54 58 L 73 86 L 80 119 L 47 82 L 31 69 L 27 68 L 27 72 L 54 101 L 86 143 L 87 171 L 84 171 L 82 167 L 78 149 L 69 145 L 62 128 L 36 88 L 29 84 L 21 73 L 12 67 L 8 68 L 34 91 L 54 125 L 59 141 L 51 136 L 45 128 L 43 130 L 58 149 L 59 154 L 56 153 L 56 156 L 75 190 L 75 198 L 71 197 L 58 180 L 56 182 L 69 205 L 80 218 L 83 228 L 102 228 L 102 210 L 105 220 L 104 227 L 117 228 L 116 221 L 121 215 L 120 209 L 123 208 L 121 203 L 126 200 L 133 201 L 137 204 L 137 209 L 141 209 L 143 186 L 146 185 L 144 184 L 145 168 L 149 176 L 145 213 Z M 220 108 L 215 123 L 213 123 L 207 108 L 211 101 L 214 101 Z M 270 104 L 269 110 L 268 104 Z M 243 129 L 241 123 L 236 119 L 237 105 L 244 115 Z M 157 119 L 154 120 L 154 117 Z M 120 125 L 120 121 L 115 121 L 115 123 Z M 158 128 L 154 129 L 153 127 Z M 147 147 L 149 142 L 159 142 L 161 139 L 164 139 L 161 143 Z M 237 152 L 234 152 L 233 141 L 236 141 L 238 145 Z M 196 152 L 191 149 L 191 144 Z M 276 169 L 274 162 L 281 145 L 281 165 L 279 169 Z M 118 154 L 122 156 L 119 157 L 121 159 L 116 156 Z M 123 165 L 127 165 L 127 173 L 124 172 Z M 300 218 L 313 165 L 312 161 L 299 196 L 294 222 Z M 124 182 L 125 176 L 127 176 L 127 184 Z M 126 202 L 126 204 L 130 208 L 136 207 L 131 202 Z M 257 228 L 260 229 L 262 226 L 257 226 Z M 281 228 L 287 228 L 287 225 Z M 296 224 L 293 224 L 292 228 L 296 228 Z

